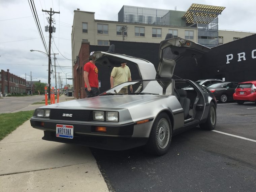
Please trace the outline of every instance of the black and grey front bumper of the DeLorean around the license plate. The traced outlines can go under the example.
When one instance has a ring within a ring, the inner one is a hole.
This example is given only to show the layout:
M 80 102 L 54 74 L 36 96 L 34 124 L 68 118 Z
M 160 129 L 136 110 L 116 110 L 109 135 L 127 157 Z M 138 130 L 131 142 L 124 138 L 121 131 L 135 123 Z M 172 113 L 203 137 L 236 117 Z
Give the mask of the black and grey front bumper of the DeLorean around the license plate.
M 42 126 L 43 122 L 43 126 Z M 74 143 L 87 147 L 107 149 L 107 150 L 126 150 L 146 145 L 148 138 L 132 137 L 134 123 L 124 125 L 115 124 L 95 124 L 90 122 L 75 122 L 50 120 L 46 118 L 32 117 L 31 126 L 44 131 L 43 140 L 56 141 L 62 143 Z M 97 122 L 98 123 L 98 122 Z M 73 138 L 56 137 L 56 125 L 72 125 L 74 128 Z M 96 126 L 105 126 L 106 132 L 95 131 Z

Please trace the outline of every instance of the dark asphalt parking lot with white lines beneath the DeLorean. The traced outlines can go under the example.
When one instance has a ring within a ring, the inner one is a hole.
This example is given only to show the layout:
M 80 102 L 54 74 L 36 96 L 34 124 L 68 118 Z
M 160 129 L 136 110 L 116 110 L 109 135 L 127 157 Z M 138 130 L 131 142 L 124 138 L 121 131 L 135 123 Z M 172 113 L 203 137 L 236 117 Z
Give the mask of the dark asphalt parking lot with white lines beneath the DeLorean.
M 174 136 L 161 157 L 91 150 L 111 191 L 255 191 L 256 105 L 218 104 L 214 131 Z

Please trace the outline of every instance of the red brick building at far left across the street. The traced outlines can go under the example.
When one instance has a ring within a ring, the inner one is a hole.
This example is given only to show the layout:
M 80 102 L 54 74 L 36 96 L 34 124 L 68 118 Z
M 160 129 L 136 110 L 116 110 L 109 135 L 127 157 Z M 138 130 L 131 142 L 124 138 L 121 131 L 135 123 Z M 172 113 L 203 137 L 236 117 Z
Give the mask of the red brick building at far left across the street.
M 1 70 L 0 73 L 0 92 L 2 94 L 26 93 L 26 79 L 18 77 L 7 71 Z

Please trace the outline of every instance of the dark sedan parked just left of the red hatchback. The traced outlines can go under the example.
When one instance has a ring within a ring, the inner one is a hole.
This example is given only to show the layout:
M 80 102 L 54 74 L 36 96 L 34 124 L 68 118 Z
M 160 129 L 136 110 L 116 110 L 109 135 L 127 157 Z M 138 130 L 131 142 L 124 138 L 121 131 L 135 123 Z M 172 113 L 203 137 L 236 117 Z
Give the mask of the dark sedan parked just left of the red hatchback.
M 226 103 L 229 100 L 233 100 L 233 94 L 237 85 L 237 82 L 223 82 L 208 85 L 206 88 L 214 94 L 219 102 Z

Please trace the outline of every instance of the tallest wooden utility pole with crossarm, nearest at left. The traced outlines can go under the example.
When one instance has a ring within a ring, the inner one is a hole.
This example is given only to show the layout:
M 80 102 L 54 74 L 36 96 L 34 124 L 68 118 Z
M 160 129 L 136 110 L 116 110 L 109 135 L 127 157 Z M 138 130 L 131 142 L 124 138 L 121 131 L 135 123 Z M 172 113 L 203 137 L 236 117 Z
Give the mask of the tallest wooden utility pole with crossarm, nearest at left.
M 43 10 L 43 12 L 47 12 L 49 15 L 50 15 L 50 18 L 49 18 L 49 55 L 48 55 L 48 84 L 49 84 L 49 87 L 48 87 L 48 99 L 51 98 L 51 39 L 52 39 L 52 33 L 53 33 L 53 27 L 52 27 L 52 15 L 54 13 L 60 13 L 60 12 L 55 12 L 55 11 L 52 11 L 52 8 L 50 11 L 47 11 L 47 10 Z

